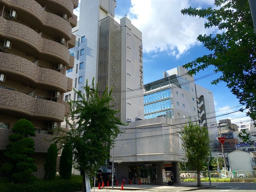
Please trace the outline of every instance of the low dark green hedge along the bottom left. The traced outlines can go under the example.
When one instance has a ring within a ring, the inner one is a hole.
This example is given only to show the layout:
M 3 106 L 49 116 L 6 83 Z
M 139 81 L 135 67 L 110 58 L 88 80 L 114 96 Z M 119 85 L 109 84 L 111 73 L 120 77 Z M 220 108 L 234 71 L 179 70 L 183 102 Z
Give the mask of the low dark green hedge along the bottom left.
M 81 191 L 83 179 L 80 175 L 72 175 L 71 180 L 36 180 L 28 184 L 0 183 L 1 192 L 71 192 Z

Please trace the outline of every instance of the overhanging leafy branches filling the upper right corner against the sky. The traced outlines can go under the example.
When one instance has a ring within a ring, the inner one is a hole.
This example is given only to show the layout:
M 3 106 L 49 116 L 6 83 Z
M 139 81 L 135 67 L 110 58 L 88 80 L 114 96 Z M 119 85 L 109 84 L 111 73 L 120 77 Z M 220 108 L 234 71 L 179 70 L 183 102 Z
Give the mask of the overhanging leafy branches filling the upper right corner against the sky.
M 217 28 L 215 35 L 199 35 L 197 40 L 211 53 L 188 62 L 183 67 L 190 75 L 209 66 L 220 77 L 212 84 L 223 81 L 248 109 L 247 115 L 256 120 L 256 36 L 248 0 L 215 0 L 216 8 L 181 10 L 183 15 L 206 18 L 205 28 Z M 244 109 L 240 109 L 243 111 Z

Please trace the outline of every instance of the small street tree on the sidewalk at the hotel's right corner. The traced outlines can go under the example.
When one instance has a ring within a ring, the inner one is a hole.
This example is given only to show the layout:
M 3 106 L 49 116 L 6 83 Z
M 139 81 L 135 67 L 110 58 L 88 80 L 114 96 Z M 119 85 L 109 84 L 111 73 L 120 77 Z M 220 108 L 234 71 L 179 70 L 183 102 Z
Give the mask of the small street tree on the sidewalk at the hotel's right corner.
M 205 127 L 200 128 L 199 125 L 189 122 L 179 133 L 187 165 L 189 169 L 197 172 L 197 187 L 202 187 L 200 171 L 204 167 L 205 159 L 210 155 L 208 131 Z

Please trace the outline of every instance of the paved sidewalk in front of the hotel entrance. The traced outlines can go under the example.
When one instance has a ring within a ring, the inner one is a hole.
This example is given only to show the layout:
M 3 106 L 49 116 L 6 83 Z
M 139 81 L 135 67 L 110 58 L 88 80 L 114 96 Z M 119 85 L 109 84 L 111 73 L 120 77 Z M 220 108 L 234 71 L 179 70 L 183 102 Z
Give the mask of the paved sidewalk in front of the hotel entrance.
M 198 188 L 196 187 L 196 183 L 193 182 L 181 182 L 181 183 L 174 183 L 173 185 L 148 185 L 148 184 L 125 184 L 123 186 L 124 190 L 147 190 L 147 191 L 166 191 L 166 192 L 172 192 L 172 191 L 194 191 L 194 190 L 200 190 L 200 189 L 206 189 L 206 188 L 213 188 L 215 186 L 205 185 L 202 184 L 203 187 Z M 101 189 L 98 189 L 98 187 L 95 187 L 95 191 L 102 192 L 104 189 L 111 190 L 110 187 L 101 187 Z M 114 190 L 120 190 L 121 185 L 114 186 Z M 93 187 L 92 187 L 93 191 Z

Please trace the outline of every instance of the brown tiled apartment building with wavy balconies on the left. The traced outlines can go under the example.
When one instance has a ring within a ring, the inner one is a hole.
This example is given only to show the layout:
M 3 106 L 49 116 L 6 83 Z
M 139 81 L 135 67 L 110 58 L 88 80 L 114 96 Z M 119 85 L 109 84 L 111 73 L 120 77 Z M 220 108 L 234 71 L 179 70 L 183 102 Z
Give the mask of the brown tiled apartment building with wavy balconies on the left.
M 26 118 L 35 126 L 38 176 L 52 128 L 60 126 L 71 91 L 66 70 L 74 67 L 68 51 L 78 0 L 0 0 L 0 166 L 13 124 Z

